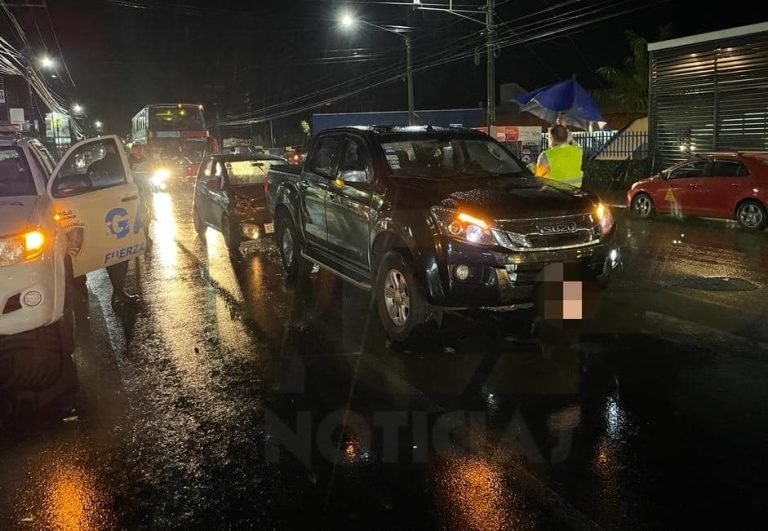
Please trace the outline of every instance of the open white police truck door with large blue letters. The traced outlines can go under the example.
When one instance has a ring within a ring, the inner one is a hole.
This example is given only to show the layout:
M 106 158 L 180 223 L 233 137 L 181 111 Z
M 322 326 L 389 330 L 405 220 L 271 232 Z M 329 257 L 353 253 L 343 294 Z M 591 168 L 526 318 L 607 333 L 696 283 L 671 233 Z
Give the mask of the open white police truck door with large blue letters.
M 144 207 L 117 136 L 72 146 L 48 180 L 48 195 L 67 233 L 74 276 L 145 251 Z

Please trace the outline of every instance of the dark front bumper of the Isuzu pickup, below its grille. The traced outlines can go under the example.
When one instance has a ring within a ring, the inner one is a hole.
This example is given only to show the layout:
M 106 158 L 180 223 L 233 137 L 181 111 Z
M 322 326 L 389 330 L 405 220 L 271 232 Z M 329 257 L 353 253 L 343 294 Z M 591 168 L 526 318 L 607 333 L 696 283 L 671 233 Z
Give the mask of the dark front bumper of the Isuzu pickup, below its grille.
M 613 237 L 583 247 L 514 252 L 447 238 L 425 257 L 430 303 L 443 309 L 514 309 L 535 303 L 543 285 L 581 281 L 586 292 L 604 287 L 621 263 Z M 549 290 L 551 293 L 552 291 Z M 562 290 L 560 291 L 562 293 Z

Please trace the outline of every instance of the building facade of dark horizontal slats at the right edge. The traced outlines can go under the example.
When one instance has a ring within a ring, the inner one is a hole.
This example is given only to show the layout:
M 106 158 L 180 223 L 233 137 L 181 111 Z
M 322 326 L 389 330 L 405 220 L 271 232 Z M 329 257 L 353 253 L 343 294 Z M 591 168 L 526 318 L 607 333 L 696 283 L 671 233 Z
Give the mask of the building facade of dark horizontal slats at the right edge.
M 648 45 L 650 162 L 768 150 L 768 22 Z

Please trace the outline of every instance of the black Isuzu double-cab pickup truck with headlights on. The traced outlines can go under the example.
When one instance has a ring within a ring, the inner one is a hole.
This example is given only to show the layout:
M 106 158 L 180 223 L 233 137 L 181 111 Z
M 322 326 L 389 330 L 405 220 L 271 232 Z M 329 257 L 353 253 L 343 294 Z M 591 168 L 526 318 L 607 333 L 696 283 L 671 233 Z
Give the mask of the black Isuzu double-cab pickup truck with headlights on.
M 530 308 L 545 269 L 599 287 L 619 263 L 607 206 L 477 131 L 325 130 L 269 171 L 267 204 L 288 275 L 308 260 L 372 290 L 395 341 L 444 311 Z

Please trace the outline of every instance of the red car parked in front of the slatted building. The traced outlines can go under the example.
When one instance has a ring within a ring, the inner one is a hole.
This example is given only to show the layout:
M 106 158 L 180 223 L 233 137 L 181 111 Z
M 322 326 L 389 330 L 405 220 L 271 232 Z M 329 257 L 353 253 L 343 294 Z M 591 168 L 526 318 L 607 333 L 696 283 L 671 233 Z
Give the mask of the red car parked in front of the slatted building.
M 657 212 L 735 219 L 743 227 L 768 225 L 768 152 L 708 153 L 632 185 L 627 207 L 639 218 Z

